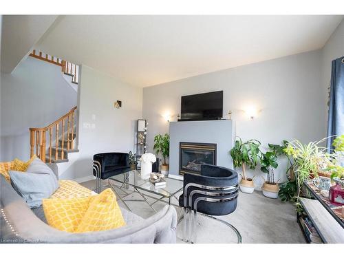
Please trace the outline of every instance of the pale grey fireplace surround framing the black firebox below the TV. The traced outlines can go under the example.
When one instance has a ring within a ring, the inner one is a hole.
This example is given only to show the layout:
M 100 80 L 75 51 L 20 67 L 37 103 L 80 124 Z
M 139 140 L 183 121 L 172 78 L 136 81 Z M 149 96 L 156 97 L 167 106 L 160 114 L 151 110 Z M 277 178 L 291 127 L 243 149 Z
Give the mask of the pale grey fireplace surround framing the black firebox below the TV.
M 233 169 L 229 151 L 235 142 L 233 120 L 170 122 L 170 174 L 180 175 L 180 142 L 216 144 L 218 166 Z

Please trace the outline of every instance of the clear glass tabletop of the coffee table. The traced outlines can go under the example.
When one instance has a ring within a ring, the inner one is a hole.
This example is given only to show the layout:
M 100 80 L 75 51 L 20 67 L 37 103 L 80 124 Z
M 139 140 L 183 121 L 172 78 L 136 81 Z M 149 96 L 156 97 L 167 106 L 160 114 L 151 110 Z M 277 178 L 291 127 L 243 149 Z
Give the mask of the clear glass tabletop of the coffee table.
M 126 180 L 127 178 L 127 180 Z M 157 195 L 164 196 L 166 198 L 171 198 L 176 193 L 182 191 L 183 189 L 183 181 L 178 180 L 175 178 L 169 178 L 165 175 L 164 177 L 166 181 L 165 186 L 154 186 L 149 180 L 142 180 L 140 177 L 139 170 L 132 170 L 127 173 L 122 173 L 120 175 L 114 175 L 109 178 L 109 180 L 114 180 L 116 182 L 120 182 L 122 184 L 128 184 L 129 186 L 136 187 L 137 189 L 141 189 L 144 191 L 148 191 L 150 193 L 155 193 Z M 125 182 L 126 180 L 126 182 Z

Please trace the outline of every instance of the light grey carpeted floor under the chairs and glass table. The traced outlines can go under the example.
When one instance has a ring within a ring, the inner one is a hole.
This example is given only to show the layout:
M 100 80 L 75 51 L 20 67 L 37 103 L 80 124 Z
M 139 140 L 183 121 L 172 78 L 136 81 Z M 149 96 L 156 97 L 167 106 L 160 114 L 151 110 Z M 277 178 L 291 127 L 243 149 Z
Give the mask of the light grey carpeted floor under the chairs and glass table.
M 106 182 L 107 183 L 107 182 Z M 96 181 L 82 183 L 89 189 L 94 189 Z M 105 182 L 104 182 L 105 184 Z M 126 199 L 142 199 L 138 193 L 133 193 Z M 149 199 L 149 198 L 148 198 Z M 149 200 L 153 202 L 153 200 Z M 121 202 L 120 206 L 125 207 Z M 127 202 L 133 213 L 143 218 L 154 214 L 151 207 L 145 202 Z M 173 204 L 177 205 L 174 200 Z M 155 210 L 162 208 L 164 203 L 153 205 Z M 179 214 L 180 208 L 176 207 Z M 282 203 L 280 200 L 264 197 L 261 192 L 252 194 L 239 193 L 237 210 L 221 219 L 233 224 L 241 233 L 243 243 L 305 243 L 299 225 L 296 221 L 294 206 L 290 203 Z M 181 241 L 183 222 L 177 227 L 178 243 Z M 197 217 L 197 243 L 235 243 L 237 237 L 233 230 L 224 224 L 207 217 Z

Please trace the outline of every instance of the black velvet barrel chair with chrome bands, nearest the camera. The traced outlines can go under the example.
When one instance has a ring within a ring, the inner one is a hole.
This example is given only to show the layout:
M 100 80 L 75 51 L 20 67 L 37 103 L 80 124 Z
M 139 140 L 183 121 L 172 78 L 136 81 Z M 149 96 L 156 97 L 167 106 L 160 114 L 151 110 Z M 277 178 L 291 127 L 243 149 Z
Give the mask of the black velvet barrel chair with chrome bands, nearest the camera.
M 238 175 L 232 169 L 202 165 L 200 175 L 185 173 L 184 190 L 179 198 L 179 205 L 184 210 L 183 240 L 195 243 L 197 213 L 201 213 L 232 228 L 238 243 L 241 243 L 241 235 L 234 226 L 213 217 L 233 213 L 237 208 L 238 194 Z

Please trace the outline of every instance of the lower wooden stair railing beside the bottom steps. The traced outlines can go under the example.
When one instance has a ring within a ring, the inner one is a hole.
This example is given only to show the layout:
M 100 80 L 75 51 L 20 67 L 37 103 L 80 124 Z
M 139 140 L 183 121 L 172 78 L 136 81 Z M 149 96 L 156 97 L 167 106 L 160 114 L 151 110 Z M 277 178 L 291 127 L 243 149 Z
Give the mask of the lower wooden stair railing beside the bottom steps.
M 47 162 L 48 160 L 50 163 L 53 158 L 55 161 L 64 160 L 65 149 L 67 149 L 67 151 L 74 149 L 75 110 L 76 107 L 72 108 L 67 114 L 61 116 L 61 118 L 58 118 L 58 120 L 52 122 L 52 124 L 47 127 L 30 128 L 30 157 L 36 154 L 43 162 Z M 65 130 L 67 130 L 67 139 L 65 139 Z M 52 153 L 53 140 L 55 141 L 54 155 Z M 59 144 L 59 142 L 61 142 L 61 144 Z M 65 146 L 65 142 L 67 146 Z M 46 157 L 46 155 L 48 155 L 48 157 Z

